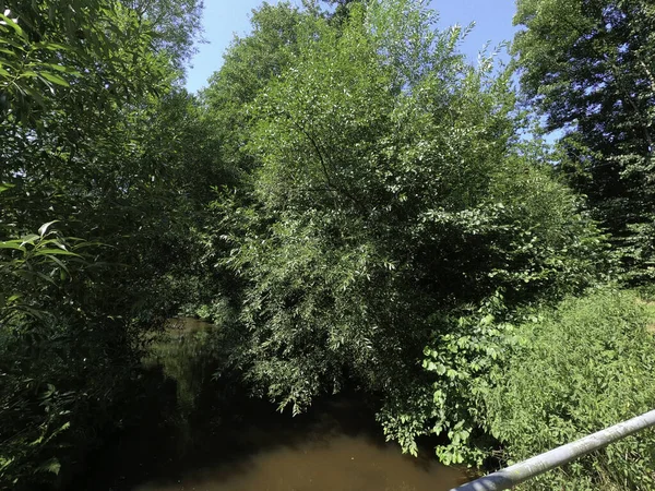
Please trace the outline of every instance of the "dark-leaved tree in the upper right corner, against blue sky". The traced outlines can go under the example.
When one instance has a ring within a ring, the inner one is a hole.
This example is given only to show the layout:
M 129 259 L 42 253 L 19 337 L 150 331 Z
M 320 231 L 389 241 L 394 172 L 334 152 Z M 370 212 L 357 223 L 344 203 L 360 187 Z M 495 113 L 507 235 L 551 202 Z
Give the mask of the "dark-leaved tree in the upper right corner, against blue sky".
M 526 100 L 562 130 L 561 170 L 653 278 L 655 8 L 644 0 L 521 0 L 514 53 Z

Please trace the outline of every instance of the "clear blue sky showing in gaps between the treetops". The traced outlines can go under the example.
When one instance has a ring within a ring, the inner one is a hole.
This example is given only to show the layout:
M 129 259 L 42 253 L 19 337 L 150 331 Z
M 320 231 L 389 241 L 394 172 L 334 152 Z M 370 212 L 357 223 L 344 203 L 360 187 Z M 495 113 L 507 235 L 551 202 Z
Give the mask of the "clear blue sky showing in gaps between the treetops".
M 206 85 L 210 75 L 221 68 L 223 53 L 234 35 L 242 36 L 250 32 L 250 12 L 261 3 L 261 0 L 205 0 L 203 24 L 209 44 L 200 45 L 200 52 L 192 60 L 193 67 L 187 75 L 189 91 L 195 92 Z M 293 0 L 293 3 L 299 4 L 300 1 Z M 511 40 L 514 35 L 513 0 L 432 0 L 430 5 L 440 14 L 440 27 L 467 25 L 475 21 L 475 29 L 462 46 L 472 60 L 477 58 L 487 41 L 496 46 Z

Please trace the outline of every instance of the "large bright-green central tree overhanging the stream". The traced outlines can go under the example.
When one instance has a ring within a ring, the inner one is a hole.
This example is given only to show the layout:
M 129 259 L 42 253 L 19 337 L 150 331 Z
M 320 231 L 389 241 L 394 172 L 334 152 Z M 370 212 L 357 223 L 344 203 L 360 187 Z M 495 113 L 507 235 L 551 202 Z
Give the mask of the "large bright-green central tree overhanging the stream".
M 246 106 L 252 190 L 216 204 L 246 285 L 247 379 L 294 411 L 346 384 L 381 395 L 386 435 L 413 453 L 465 403 L 465 384 L 434 398 L 451 371 L 424 370 L 426 349 L 468 336 L 449 367 L 464 379 L 483 342 L 460 316 L 583 288 L 603 249 L 519 144 L 509 72 L 466 64 L 461 32 L 432 21 L 412 0 L 303 16 L 286 69 Z

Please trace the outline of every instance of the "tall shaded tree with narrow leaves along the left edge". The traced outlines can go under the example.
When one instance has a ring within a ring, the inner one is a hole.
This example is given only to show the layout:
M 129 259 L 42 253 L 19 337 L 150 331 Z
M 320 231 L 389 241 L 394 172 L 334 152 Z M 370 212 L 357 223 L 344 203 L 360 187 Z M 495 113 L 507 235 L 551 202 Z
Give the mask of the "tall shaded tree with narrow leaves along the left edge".
M 215 160 L 150 20 L 111 0 L 9 7 L 0 487 L 34 489 L 129 417 L 143 333 L 176 306 L 167 274 L 193 254 L 186 212 L 209 200 Z

